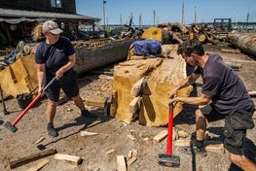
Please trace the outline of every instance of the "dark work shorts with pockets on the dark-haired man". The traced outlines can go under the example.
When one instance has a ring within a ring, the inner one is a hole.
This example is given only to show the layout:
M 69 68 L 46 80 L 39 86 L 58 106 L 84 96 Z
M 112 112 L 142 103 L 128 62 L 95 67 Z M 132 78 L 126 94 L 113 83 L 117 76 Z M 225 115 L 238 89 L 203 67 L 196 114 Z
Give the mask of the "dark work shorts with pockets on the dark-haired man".
M 201 108 L 201 113 L 210 122 L 214 120 L 225 119 L 226 136 L 224 140 L 224 147 L 231 154 L 244 155 L 244 140 L 246 137 L 246 130 L 254 127 L 252 120 L 254 110 L 246 111 L 240 109 L 231 116 L 224 116 L 218 114 L 212 105 L 207 105 Z

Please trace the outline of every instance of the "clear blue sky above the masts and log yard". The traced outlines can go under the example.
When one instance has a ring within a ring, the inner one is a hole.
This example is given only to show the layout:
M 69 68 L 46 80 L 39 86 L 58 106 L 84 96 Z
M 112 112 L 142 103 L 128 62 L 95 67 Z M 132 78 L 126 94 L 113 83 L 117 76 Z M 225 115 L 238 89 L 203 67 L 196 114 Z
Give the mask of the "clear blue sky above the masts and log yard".
M 77 14 L 103 18 L 103 0 L 76 0 Z M 181 21 L 182 0 L 106 0 L 106 23 L 119 24 L 120 16 L 123 23 L 128 23 L 132 13 L 133 23 L 153 24 L 154 10 L 156 23 Z M 215 17 L 231 17 L 234 22 L 246 21 L 249 11 L 249 21 L 256 21 L 256 0 L 184 0 L 185 23 L 195 20 L 211 22 Z M 195 8 L 196 7 L 196 8 Z M 103 23 L 103 19 L 101 20 Z

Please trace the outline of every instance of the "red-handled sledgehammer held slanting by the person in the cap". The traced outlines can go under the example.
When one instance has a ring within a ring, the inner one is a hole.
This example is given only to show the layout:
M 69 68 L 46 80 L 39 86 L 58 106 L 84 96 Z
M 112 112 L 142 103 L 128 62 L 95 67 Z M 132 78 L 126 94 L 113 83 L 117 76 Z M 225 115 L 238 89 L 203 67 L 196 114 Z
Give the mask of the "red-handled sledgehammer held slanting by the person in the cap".
M 41 93 L 39 93 L 34 99 L 33 101 L 24 109 L 24 111 L 18 116 L 18 118 L 16 120 L 14 120 L 12 123 L 9 121 L 6 121 L 4 126 L 10 130 L 11 132 L 15 133 L 17 131 L 17 127 L 16 124 L 18 123 L 18 120 L 22 119 L 22 117 L 24 117 L 24 115 L 27 113 L 27 111 L 29 109 L 31 109 L 36 102 L 43 96 L 43 93 L 46 91 L 46 89 L 50 86 L 53 85 L 53 83 L 55 82 L 56 78 L 54 78 L 48 85 L 46 85 L 46 87 L 44 87 L 44 89 L 42 90 Z

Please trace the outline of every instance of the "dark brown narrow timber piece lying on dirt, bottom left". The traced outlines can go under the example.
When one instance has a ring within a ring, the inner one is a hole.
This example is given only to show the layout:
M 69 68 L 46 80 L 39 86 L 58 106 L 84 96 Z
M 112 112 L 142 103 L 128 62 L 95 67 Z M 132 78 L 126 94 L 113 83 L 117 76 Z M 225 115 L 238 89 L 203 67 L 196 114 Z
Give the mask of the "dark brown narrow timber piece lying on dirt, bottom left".
M 56 151 L 51 149 L 51 150 L 46 150 L 46 151 L 43 151 L 43 152 L 40 152 L 40 153 L 37 153 L 37 154 L 30 154 L 28 156 L 25 156 L 25 157 L 22 157 L 22 158 L 19 158 L 15 161 L 12 161 L 10 162 L 9 166 L 11 169 L 14 169 L 18 166 L 21 166 L 21 165 L 24 165 L 26 163 L 29 163 L 31 161 L 35 161 L 37 159 L 41 159 L 43 157 L 46 157 L 46 156 L 49 156 L 49 155 L 52 155 L 52 154 L 55 154 Z

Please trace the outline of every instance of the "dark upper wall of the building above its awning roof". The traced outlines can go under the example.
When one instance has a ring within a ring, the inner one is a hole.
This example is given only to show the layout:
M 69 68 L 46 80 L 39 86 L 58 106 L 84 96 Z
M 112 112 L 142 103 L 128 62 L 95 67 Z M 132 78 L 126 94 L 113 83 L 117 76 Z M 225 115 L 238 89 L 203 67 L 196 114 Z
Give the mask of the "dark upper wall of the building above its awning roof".
M 76 14 L 75 0 L 61 0 L 61 8 L 51 7 L 51 0 L 0 0 L 0 8 Z

